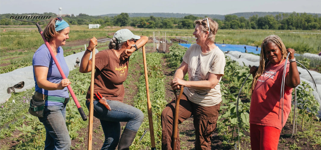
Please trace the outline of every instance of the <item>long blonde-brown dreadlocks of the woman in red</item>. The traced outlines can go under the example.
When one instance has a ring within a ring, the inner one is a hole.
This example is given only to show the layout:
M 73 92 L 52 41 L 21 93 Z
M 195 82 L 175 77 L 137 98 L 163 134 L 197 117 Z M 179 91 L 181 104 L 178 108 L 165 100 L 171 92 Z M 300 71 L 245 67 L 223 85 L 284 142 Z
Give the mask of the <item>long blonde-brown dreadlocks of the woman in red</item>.
M 285 48 L 285 46 L 279 36 L 270 35 L 268 37 L 265 37 L 265 39 L 263 40 L 262 45 L 261 45 L 260 65 L 256 71 L 254 78 L 253 78 L 251 92 L 253 92 L 253 90 L 254 90 L 257 79 L 264 73 L 265 65 L 269 62 L 269 60 L 267 59 L 266 54 L 265 54 L 265 46 L 267 46 L 271 42 L 274 43 L 276 46 L 278 46 L 279 49 L 281 50 L 281 54 L 282 54 L 281 55 L 281 62 L 287 56 L 286 48 Z

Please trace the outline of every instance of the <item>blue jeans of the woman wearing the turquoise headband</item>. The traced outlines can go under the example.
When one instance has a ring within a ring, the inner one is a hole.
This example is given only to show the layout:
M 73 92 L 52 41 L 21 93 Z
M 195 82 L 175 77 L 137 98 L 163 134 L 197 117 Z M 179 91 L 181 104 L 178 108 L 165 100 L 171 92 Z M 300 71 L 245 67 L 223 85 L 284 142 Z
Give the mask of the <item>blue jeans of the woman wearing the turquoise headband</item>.
M 39 118 L 39 117 L 38 117 Z M 66 104 L 45 106 L 39 118 L 46 129 L 45 150 L 69 150 L 71 140 L 66 126 Z

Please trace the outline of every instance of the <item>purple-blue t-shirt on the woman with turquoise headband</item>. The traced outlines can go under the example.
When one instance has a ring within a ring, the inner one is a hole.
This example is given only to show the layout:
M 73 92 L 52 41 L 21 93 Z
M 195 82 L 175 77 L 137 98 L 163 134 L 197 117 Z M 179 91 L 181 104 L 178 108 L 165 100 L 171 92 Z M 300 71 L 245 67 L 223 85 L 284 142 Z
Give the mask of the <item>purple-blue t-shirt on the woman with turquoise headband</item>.
M 68 77 L 69 75 L 69 68 L 67 66 L 67 63 L 65 62 L 64 58 L 64 51 L 59 46 L 57 49 L 57 55 L 56 58 L 61 66 L 61 69 L 64 71 L 65 76 Z M 62 77 L 58 71 L 58 68 L 56 66 L 56 63 L 54 62 L 53 58 L 51 57 L 49 50 L 45 44 L 41 45 L 35 54 L 33 54 L 32 58 L 32 66 L 45 66 L 48 67 L 48 74 L 47 74 L 47 80 L 52 83 L 60 83 L 62 80 Z M 35 91 L 48 95 L 48 96 L 58 96 L 58 97 L 69 97 L 68 88 L 65 87 L 62 90 L 45 90 L 43 88 L 39 88 L 35 76 L 35 70 L 33 69 L 33 78 L 35 80 Z M 62 103 L 59 102 L 52 102 L 52 101 L 46 101 L 45 105 L 51 106 L 51 105 L 60 105 Z

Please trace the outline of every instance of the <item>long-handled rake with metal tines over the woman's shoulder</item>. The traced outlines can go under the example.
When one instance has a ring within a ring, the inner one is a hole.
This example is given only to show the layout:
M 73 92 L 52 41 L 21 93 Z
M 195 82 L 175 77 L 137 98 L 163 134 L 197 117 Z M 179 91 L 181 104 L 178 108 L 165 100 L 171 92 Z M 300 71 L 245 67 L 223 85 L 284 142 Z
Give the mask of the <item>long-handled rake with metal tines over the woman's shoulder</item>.
M 28 15 L 28 16 L 11 16 L 10 19 L 15 19 L 15 20 L 19 20 L 19 21 L 26 21 L 26 22 L 32 22 L 32 23 L 35 23 L 35 24 L 36 24 L 36 26 L 37 26 L 37 28 L 38 28 L 38 31 L 39 31 L 39 33 L 40 33 L 43 41 L 45 42 L 45 45 L 47 46 L 47 48 L 48 48 L 48 50 L 49 50 L 49 52 L 50 52 L 50 55 L 51 55 L 52 59 L 53 59 L 54 62 L 56 63 L 56 66 L 57 66 L 57 68 L 58 68 L 58 71 L 59 71 L 61 77 L 62 77 L 63 79 L 66 79 L 65 73 L 62 71 L 62 69 L 61 69 L 61 67 L 60 67 L 60 65 L 59 65 L 59 62 L 58 62 L 58 60 L 57 60 L 54 52 L 52 51 L 52 49 L 51 49 L 51 47 L 50 47 L 47 39 L 43 36 L 43 31 L 42 31 L 42 29 L 41 29 L 41 27 L 40 27 L 40 25 L 39 25 L 39 22 L 50 20 L 50 19 L 51 19 L 51 16 L 31 16 L 31 15 Z M 28 20 L 22 20 L 22 19 L 45 19 L 45 20 L 38 21 L 38 22 L 34 22 L 34 21 L 28 21 Z M 82 117 L 82 120 L 83 120 L 83 121 L 86 121 L 86 120 L 87 120 L 87 116 L 86 116 L 85 112 L 83 112 L 82 107 L 80 106 L 80 104 L 79 104 L 79 102 L 78 102 L 78 100 L 77 100 L 77 97 L 76 97 L 75 94 L 74 94 L 73 89 L 71 88 L 70 85 L 68 85 L 67 88 L 68 88 L 68 90 L 69 90 L 69 92 L 70 92 L 70 95 L 71 95 L 71 96 L 73 97 L 73 99 L 74 99 L 74 102 L 75 102 L 75 104 L 76 104 L 76 106 L 77 106 L 77 108 L 78 108 L 78 111 L 79 111 L 79 113 L 80 113 L 80 115 L 81 115 L 81 117 Z

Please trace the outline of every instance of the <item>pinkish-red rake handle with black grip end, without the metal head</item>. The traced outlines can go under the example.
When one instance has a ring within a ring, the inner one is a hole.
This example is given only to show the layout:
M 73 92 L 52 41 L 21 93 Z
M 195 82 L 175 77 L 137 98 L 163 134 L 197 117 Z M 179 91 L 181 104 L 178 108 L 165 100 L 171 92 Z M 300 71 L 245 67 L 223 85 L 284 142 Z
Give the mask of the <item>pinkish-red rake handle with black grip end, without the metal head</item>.
M 40 25 L 39 25 L 39 24 L 36 24 L 36 25 L 37 25 L 37 27 L 38 27 L 38 29 L 39 29 L 39 28 L 40 28 Z M 43 41 L 45 42 L 45 45 L 47 46 L 47 48 L 48 48 L 48 50 L 49 50 L 49 52 L 50 52 L 50 55 L 51 55 L 52 59 L 53 59 L 54 62 L 56 63 L 57 69 L 58 69 L 58 71 L 59 71 L 62 79 L 66 79 L 65 73 L 64 73 L 64 71 L 62 71 L 62 69 L 61 69 L 61 67 L 60 67 L 60 65 L 59 65 L 59 62 L 58 62 L 58 60 L 57 60 L 54 52 L 52 51 L 52 49 L 51 49 L 51 47 L 50 47 L 50 45 L 49 45 L 49 42 L 48 42 L 47 39 L 43 36 L 43 31 L 41 30 L 41 28 L 39 29 L 39 33 L 40 33 Z M 79 102 L 78 102 L 78 99 L 77 99 L 77 97 L 76 97 L 73 89 L 71 88 L 70 85 L 68 85 L 67 88 L 68 88 L 68 90 L 69 90 L 69 93 L 70 93 L 71 97 L 73 97 L 73 100 L 74 100 L 74 102 L 75 102 L 75 104 L 76 104 L 76 106 L 77 106 L 77 108 L 78 108 L 78 111 L 79 111 L 79 114 L 80 114 L 81 117 L 82 117 L 82 120 L 83 120 L 83 121 L 86 121 L 86 120 L 87 120 L 87 116 L 86 116 L 85 112 L 83 112 L 82 107 L 80 106 L 80 104 L 79 104 Z

